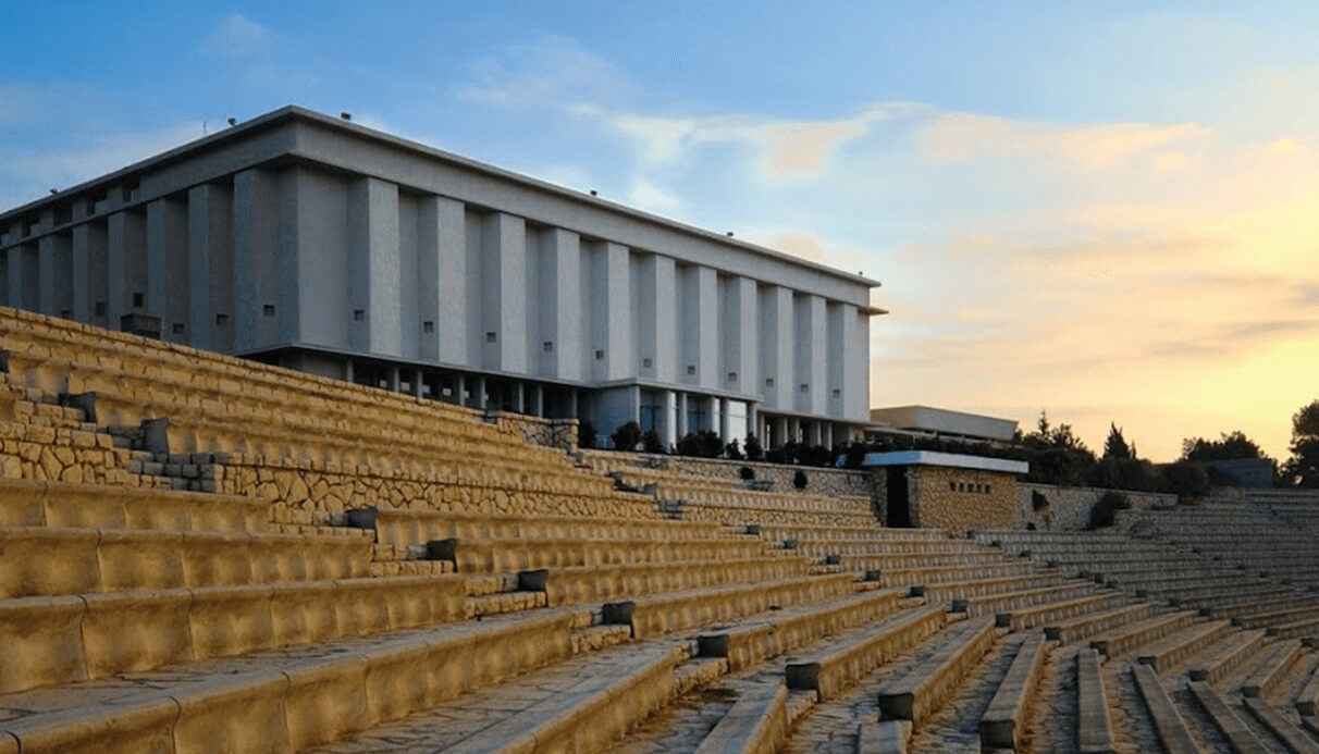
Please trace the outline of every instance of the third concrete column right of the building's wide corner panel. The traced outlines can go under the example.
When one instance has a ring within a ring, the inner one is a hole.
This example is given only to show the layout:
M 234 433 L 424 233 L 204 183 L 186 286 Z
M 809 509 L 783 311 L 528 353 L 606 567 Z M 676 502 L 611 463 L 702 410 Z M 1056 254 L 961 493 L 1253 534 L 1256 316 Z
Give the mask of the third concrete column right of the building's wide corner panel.
M 526 224 L 495 212 L 483 229 L 483 364 L 526 372 Z

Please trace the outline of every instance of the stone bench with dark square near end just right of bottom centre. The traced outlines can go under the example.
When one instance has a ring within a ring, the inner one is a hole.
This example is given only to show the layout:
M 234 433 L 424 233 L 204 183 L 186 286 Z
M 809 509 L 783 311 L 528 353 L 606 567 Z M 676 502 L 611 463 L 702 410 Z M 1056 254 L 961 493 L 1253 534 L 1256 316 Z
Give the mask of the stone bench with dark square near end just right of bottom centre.
M 724 658 L 731 672 L 892 614 L 902 602 L 901 589 L 864 592 L 828 602 L 772 613 L 765 620 L 725 629 L 708 629 L 696 638 L 700 656 Z

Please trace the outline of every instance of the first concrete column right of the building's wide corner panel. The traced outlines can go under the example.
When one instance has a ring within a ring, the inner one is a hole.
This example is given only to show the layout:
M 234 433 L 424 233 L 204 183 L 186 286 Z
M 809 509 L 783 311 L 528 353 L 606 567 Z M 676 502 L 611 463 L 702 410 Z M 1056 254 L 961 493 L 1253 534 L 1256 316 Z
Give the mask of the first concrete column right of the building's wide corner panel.
M 357 351 L 401 355 L 397 185 L 379 178 L 352 183 L 348 241 L 348 343 Z

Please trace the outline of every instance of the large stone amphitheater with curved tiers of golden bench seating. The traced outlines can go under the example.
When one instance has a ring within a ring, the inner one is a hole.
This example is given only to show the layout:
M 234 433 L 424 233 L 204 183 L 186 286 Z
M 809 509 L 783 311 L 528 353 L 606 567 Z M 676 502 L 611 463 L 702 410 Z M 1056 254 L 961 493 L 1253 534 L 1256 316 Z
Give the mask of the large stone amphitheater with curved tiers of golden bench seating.
M 1314 498 L 886 529 L 856 473 L 16 310 L 0 355 L 0 753 L 1319 750 Z

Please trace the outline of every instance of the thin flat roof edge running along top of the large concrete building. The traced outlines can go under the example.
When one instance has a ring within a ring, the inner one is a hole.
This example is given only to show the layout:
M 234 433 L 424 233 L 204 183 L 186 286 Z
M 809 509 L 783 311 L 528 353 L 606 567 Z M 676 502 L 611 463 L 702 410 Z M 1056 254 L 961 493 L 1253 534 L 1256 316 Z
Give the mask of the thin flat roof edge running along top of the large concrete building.
M 70 195 L 87 191 L 87 190 L 90 190 L 94 186 L 98 186 L 100 183 L 109 183 L 109 182 L 113 182 L 113 181 L 116 181 L 119 178 L 123 178 L 123 177 L 127 177 L 127 175 L 132 175 L 135 173 L 140 173 L 140 171 L 144 171 L 144 170 L 148 170 L 148 169 L 152 169 L 152 167 L 156 167 L 156 166 L 160 166 L 160 165 L 164 165 L 164 163 L 168 163 L 168 162 L 174 162 L 174 161 L 178 161 L 178 160 L 182 160 L 182 158 L 187 157 L 189 154 L 191 154 L 194 152 L 199 152 L 199 150 L 210 148 L 210 146 L 212 146 L 215 144 L 222 144 L 222 142 L 226 142 L 226 141 L 231 141 L 231 140 L 239 138 L 239 137 L 241 137 L 241 136 L 244 136 L 244 134 L 247 134 L 249 132 L 259 130 L 259 129 L 262 129 L 262 128 L 268 128 L 270 125 L 276 125 L 276 124 L 280 124 L 280 123 L 284 123 L 284 121 L 288 121 L 288 120 L 297 120 L 297 119 L 315 121 L 315 123 L 318 123 L 321 125 L 324 125 L 324 127 L 336 128 L 336 129 L 340 129 L 343 132 L 352 133 L 355 136 L 360 136 L 360 137 L 364 137 L 364 138 L 371 138 L 371 140 L 375 140 L 375 141 L 385 142 L 385 144 L 389 144 L 389 145 L 393 145 L 393 146 L 397 146 L 397 148 L 401 148 L 401 149 L 406 149 L 409 152 L 414 152 L 414 153 L 418 153 L 418 154 L 422 154 L 422 156 L 426 156 L 426 157 L 431 157 L 431 158 L 435 158 L 435 160 L 442 160 L 442 161 L 446 161 L 446 162 L 460 165 L 463 167 L 475 170 L 477 173 L 484 173 L 487 175 L 503 178 L 503 179 L 510 181 L 513 183 L 520 183 L 520 185 L 526 186 L 529 188 L 536 188 L 538 191 L 547 191 L 547 192 L 551 192 L 551 194 L 558 194 L 559 196 L 574 199 L 574 200 L 578 200 L 578 202 L 582 202 L 582 203 L 586 203 L 586 204 L 594 204 L 594 206 L 598 206 L 598 207 L 604 207 L 604 208 L 608 208 L 608 210 L 611 210 L 613 212 L 619 212 L 621 215 L 628 215 L 628 216 L 632 216 L 632 218 L 638 219 L 638 220 L 644 220 L 644 221 L 648 221 L 648 223 L 656 223 L 656 224 L 660 224 L 660 225 L 665 225 L 665 227 L 671 228 L 674 231 L 679 231 L 679 232 L 683 232 L 683 233 L 699 236 L 699 237 L 703 237 L 706 240 L 718 241 L 720 244 L 729 245 L 729 246 L 736 246 L 736 248 L 740 248 L 740 249 L 744 249 L 744 250 L 748 250 L 748 252 L 753 252 L 753 253 L 757 253 L 757 254 L 765 254 L 765 256 L 769 256 L 769 257 L 774 257 L 774 258 L 778 258 L 778 260 L 782 260 L 782 261 L 791 262 L 791 264 L 798 265 L 798 266 L 810 268 L 810 269 L 814 269 L 814 270 L 830 274 L 832 277 L 845 279 L 848 282 L 860 283 L 860 285 L 864 285 L 864 286 L 868 286 L 868 287 L 880 287 L 882 285 L 882 283 L 880 283 L 880 281 L 868 278 L 868 277 L 861 276 L 861 274 L 843 272 L 843 270 L 840 270 L 838 268 L 832 268 L 832 266 L 828 266 L 828 265 L 822 265 L 819 262 L 813 262 L 813 261 L 809 261 L 809 260 L 803 260 L 801 257 L 789 254 L 786 252 L 780 252 L 780 250 L 776 250 L 776 249 L 770 249 L 768 246 L 761 246 L 758 244 L 751 244 L 748 241 L 743 241 L 740 239 L 736 239 L 733 236 L 728 236 L 725 233 L 719 233 L 719 232 L 715 232 L 715 231 L 707 231 L 704 228 L 698 228 L 695 225 L 689 225 L 686 223 L 679 223 L 677 220 L 670 220 L 669 218 L 663 218 L 663 216 L 660 216 L 660 215 L 645 212 L 642 210 L 637 210 L 634 207 L 628 207 L 625 204 L 619 204 L 617 202 L 609 202 L 609 200 L 601 199 L 599 196 L 592 196 L 591 194 L 587 194 L 584 191 L 576 191 L 574 188 L 566 188 L 563 186 L 558 186 L 555 183 L 550 183 L 549 181 L 542 181 L 539 178 L 532 178 L 530 175 L 522 175 L 521 173 L 514 173 L 512 170 L 505 170 L 503 167 L 496 167 L 496 166 L 489 165 L 487 162 L 480 162 L 480 161 L 472 160 L 470 157 L 463 157 L 460 154 L 454 154 L 452 152 L 445 152 L 445 150 L 437 149 L 434 146 L 427 146 L 427 145 L 417 142 L 417 141 L 410 141 L 410 140 L 400 137 L 400 136 L 393 136 L 390 133 L 385 133 L 385 132 L 376 130 L 376 129 L 372 129 L 372 128 L 367 128 L 364 125 L 360 125 L 360 124 L 356 124 L 356 123 L 352 123 L 352 121 L 348 121 L 348 120 L 343 120 L 342 117 L 330 116 L 330 115 L 326 115 L 326 113 L 322 113 L 322 112 L 317 112 L 314 109 L 307 109 L 305 107 L 299 107 L 299 105 L 294 105 L 294 104 L 281 107 L 278 109 L 270 111 L 270 112 L 264 113 L 264 115 L 259 115 L 259 116 L 256 116 L 256 117 L 253 117 L 251 120 L 241 121 L 241 123 L 239 123 L 235 127 L 226 128 L 223 130 L 218 130 L 218 132 L 215 132 L 212 134 L 203 136 L 202 138 L 198 138 L 198 140 L 194 140 L 194 141 L 189 141 L 187 144 L 183 144 L 181 146 L 175 146 L 174 149 L 162 152 L 162 153 L 156 154 L 153 157 L 148 157 L 146 160 L 142 160 L 142 161 L 135 162 L 135 163 L 132 163 L 132 165 L 129 165 L 127 167 L 121 167 L 119 170 L 115 170 L 113 173 L 107 173 L 107 174 L 100 175 L 98 178 L 92 178 L 91 181 L 84 181 L 84 182 L 82 182 L 82 183 L 79 183 L 77 186 L 73 186 L 70 188 L 61 190 L 61 191 L 58 191 L 55 194 L 51 194 L 49 196 L 42 196 L 42 198 L 36 199 L 33 202 L 28 202 L 26 204 L 21 204 L 21 206 L 18 206 L 18 207 L 16 207 L 13 210 L 8 210 L 8 211 L 4 211 L 4 212 L 0 212 L 0 224 L 12 221 L 18 215 L 24 215 L 24 214 L 32 212 L 32 211 L 38 210 L 41 207 L 45 207 L 47 204 L 53 204 L 53 203 L 57 203 L 57 202 L 61 202 L 61 200 L 67 200 Z M 661 250 L 661 249 L 653 249 L 653 250 Z M 867 314 L 874 315 L 874 314 L 880 314 L 880 312 L 882 312 L 882 310 L 868 311 Z M 886 314 L 886 312 L 884 312 L 884 314 Z

